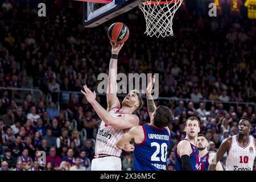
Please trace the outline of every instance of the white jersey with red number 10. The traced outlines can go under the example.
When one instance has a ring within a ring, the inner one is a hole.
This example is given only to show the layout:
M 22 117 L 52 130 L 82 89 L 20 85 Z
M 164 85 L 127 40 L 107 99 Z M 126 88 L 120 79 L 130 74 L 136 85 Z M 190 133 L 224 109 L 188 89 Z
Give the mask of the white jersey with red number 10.
M 243 147 L 238 142 L 238 135 L 233 135 L 226 159 L 226 171 L 253 171 L 255 156 L 256 146 L 252 136 L 249 136 L 247 145 Z

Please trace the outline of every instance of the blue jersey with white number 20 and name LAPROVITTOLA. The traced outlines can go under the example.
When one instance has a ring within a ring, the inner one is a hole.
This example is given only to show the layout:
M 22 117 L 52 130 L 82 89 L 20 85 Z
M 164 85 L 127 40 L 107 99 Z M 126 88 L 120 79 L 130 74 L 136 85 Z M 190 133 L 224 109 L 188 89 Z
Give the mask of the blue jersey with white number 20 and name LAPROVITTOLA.
M 152 125 L 144 125 L 144 140 L 135 143 L 133 151 L 135 171 L 166 170 L 166 159 L 170 144 L 167 129 L 159 129 Z

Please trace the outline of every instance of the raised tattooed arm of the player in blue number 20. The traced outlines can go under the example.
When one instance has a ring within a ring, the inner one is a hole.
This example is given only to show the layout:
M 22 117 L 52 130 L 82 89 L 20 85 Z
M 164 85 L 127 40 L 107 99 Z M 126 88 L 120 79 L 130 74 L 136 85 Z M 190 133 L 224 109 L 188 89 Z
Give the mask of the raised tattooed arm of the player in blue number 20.
M 155 76 L 153 76 L 153 78 L 150 77 L 150 83 L 147 85 L 147 90 L 146 90 L 146 94 L 147 94 L 147 110 L 148 110 L 148 115 L 150 116 L 150 118 L 152 117 L 152 114 L 154 113 L 156 106 L 155 106 L 155 102 L 153 100 L 153 97 L 151 96 L 151 90 L 154 86 L 155 83 Z

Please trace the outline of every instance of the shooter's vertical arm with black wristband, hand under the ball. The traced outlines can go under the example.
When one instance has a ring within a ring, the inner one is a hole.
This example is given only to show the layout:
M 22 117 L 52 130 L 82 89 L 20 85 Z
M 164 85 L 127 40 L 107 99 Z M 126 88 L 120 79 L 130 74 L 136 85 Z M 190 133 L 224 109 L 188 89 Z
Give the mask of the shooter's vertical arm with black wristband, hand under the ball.
M 109 63 L 109 80 L 108 80 L 108 89 L 107 89 L 107 102 L 108 102 L 108 111 L 115 106 L 120 107 L 119 100 L 117 98 L 117 56 L 123 44 L 115 45 L 113 42 L 110 42 L 112 45 L 112 56 Z

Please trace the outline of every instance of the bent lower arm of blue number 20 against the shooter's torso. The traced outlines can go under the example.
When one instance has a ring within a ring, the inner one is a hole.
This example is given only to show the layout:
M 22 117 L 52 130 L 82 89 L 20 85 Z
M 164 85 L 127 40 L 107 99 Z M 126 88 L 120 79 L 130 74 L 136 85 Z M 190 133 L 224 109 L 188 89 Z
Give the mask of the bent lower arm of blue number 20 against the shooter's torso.
M 126 134 L 124 134 L 121 139 L 117 141 L 117 147 L 125 151 L 133 151 L 134 146 L 129 144 L 129 142 L 137 137 L 137 135 L 139 135 L 141 132 L 141 126 L 134 126 Z

